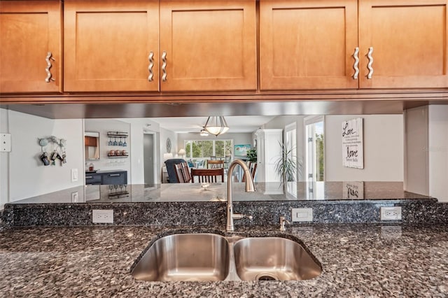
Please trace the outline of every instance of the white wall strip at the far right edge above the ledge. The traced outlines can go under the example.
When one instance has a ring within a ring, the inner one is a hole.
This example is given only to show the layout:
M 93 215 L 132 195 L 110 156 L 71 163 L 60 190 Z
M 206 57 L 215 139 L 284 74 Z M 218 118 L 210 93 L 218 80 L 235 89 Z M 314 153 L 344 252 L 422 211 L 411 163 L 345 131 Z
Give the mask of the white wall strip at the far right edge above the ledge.
M 429 106 L 429 195 L 448 201 L 448 106 Z

